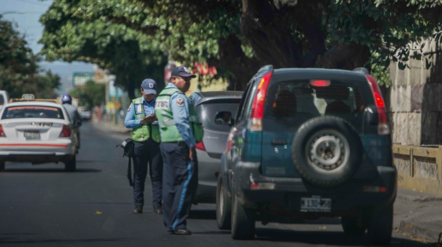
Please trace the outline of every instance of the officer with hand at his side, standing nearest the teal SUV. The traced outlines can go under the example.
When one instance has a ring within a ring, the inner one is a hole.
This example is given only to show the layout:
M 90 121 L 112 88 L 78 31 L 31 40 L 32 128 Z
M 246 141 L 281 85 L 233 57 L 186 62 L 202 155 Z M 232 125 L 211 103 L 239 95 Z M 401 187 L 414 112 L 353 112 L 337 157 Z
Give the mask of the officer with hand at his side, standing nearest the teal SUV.
M 164 161 L 164 225 L 169 233 L 180 235 L 191 234 L 186 219 L 198 186 L 195 141 L 200 142 L 203 134 L 195 109 L 184 94 L 194 77 L 185 66 L 175 67 L 171 82 L 158 95 L 155 104 Z

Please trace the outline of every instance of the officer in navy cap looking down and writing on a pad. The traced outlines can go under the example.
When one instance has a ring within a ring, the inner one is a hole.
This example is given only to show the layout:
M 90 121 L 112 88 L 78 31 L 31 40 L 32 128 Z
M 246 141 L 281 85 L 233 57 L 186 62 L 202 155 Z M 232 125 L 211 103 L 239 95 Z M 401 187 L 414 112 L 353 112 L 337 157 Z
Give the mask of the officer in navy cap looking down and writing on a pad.
M 133 128 L 134 140 L 134 214 L 141 214 L 144 205 L 144 182 L 148 172 L 152 180 L 152 204 L 155 214 L 162 214 L 161 187 L 163 161 L 159 151 L 161 141 L 155 115 L 157 84 L 152 79 L 141 82 L 142 97 L 132 100 L 124 120 L 126 128 Z

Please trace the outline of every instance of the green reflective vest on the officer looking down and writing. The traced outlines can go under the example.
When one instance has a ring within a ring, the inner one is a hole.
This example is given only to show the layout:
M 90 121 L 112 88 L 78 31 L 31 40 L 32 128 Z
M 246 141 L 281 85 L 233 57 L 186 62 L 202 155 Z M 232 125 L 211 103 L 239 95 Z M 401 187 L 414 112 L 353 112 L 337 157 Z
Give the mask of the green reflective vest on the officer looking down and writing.
M 144 114 L 144 105 L 143 105 L 143 97 L 136 98 L 132 100 L 134 104 L 134 115 L 135 119 L 143 119 L 146 115 Z M 138 105 L 141 104 L 141 114 L 137 114 Z M 132 133 L 132 139 L 135 142 L 144 142 L 148 140 L 149 137 L 152 137 L 155 142 L 161 142 L 160 137 L 160 129 L 157 122 L 153 122 L 150 125 L 141 125 L 140 127 L 134 128 L 134 132 Z

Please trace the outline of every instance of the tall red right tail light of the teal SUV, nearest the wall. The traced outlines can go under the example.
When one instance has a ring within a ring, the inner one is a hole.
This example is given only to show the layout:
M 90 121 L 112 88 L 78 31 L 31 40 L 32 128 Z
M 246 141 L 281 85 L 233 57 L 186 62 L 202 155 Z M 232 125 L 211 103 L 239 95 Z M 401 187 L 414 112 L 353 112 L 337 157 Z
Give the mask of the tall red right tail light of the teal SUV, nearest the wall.
M 390 127 L 388 126 L 388 118 L 385 110 L 384 99 L 382 98 L 381 90 L 375 78 L 371 75 L 365 75 L 367 81 L 369 81 L 372 89 L 373 97 L 375 99 L 376 108 L 378 109 L 378 134 L 388 135 L 390 134 Z

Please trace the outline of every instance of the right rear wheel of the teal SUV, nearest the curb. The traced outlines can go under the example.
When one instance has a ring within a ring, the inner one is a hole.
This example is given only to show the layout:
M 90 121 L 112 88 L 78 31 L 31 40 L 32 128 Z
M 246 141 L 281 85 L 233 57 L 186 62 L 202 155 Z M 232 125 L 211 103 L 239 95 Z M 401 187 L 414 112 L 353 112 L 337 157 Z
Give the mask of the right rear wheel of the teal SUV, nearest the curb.
M 393 231 L 393 205 L 374 208 L 368 228 L 372 244 L 389 244 Z

